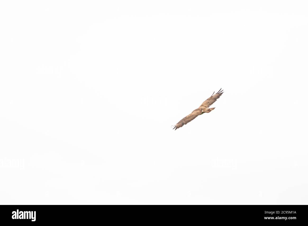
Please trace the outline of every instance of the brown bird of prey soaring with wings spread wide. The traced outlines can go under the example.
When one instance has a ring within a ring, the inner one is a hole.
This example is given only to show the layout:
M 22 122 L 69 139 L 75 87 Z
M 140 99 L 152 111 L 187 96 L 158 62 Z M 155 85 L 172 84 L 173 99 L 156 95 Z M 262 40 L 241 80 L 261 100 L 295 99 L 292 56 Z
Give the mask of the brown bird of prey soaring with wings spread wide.
M 193 110 L 192 113 L 190 113 L 188 116 L 182 118 L 176 125 L 174 126 L 173 129 L 179 129 L 183 125 L 186 125 L 188 122 L 194 120 L 198 115 L 202 115 L 203 113 L 209 113 L 213 111 L 215 108 L 209 108 L 224 92 L 224 90 L 219 90 L 217 93 L 213 93 L 212 96 L 210 96 L 208 99 L 206 99 L 199 108 L 196 110 Z

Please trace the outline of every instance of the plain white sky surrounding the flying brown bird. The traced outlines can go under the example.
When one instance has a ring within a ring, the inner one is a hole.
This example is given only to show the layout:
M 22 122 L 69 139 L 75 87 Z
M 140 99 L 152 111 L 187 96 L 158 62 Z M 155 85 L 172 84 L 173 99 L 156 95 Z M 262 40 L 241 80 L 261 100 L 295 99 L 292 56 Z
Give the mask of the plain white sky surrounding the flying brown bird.
M 307 204 L 307 11 L 2 1 L 1 204 Z

